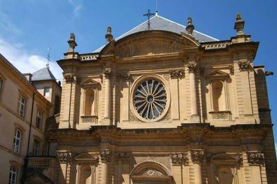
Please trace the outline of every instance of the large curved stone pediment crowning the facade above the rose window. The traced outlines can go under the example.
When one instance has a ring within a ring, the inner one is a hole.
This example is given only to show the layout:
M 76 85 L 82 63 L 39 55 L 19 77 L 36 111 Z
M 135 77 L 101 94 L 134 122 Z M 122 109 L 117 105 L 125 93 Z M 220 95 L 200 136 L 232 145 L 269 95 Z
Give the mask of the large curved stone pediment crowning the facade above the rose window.
M 184 48 L 195 48 L 199 42 L 186 34 L 171 33 L 165 30 L 148 30 L 111 41 L 100 55 L 116 57 L 152 56 L 179 53 Z

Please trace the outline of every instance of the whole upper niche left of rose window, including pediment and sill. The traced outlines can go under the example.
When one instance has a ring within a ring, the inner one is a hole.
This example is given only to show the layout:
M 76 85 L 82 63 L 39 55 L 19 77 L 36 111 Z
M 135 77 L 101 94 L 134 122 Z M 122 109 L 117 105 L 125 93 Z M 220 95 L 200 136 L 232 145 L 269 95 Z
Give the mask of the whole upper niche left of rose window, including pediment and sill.
M 80 83 L 80 87 L 80 123 L 97 123 L 98 94 L 101 84 L 95 80 L 87 79 Z

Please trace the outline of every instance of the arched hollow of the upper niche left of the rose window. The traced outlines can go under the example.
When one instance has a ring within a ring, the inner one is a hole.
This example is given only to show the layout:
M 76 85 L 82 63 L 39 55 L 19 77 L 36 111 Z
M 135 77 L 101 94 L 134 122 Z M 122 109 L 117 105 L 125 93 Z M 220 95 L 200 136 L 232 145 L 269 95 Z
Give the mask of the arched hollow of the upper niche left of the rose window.
M 84 91 L 84 116 L 94 115 L 94 91 L 86 89 Z

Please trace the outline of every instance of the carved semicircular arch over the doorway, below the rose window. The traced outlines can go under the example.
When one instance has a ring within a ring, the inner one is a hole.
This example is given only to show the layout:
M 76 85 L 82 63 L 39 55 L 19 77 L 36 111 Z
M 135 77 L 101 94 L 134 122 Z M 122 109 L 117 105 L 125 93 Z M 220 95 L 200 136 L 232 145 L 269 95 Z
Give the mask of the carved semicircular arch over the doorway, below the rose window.
M 154 162 L 145 162 L 136 165 L 130 174 L 132 183 L 172 183 L 172 176 L 163 165 Z

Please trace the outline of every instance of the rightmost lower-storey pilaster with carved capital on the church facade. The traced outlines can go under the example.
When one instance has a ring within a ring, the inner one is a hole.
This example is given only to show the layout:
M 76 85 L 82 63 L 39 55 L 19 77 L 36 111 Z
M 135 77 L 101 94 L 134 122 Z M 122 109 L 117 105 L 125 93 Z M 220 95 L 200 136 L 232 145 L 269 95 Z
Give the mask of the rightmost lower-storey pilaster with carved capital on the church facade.
M 264 164 L 265 156 L 260 152 L 248 152 L 247 153 L 248 163 L 251 173 L 251 183 L 261 184 L 261 172 L 260 166 Z

